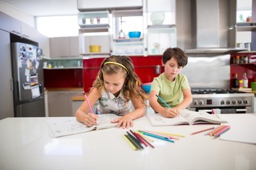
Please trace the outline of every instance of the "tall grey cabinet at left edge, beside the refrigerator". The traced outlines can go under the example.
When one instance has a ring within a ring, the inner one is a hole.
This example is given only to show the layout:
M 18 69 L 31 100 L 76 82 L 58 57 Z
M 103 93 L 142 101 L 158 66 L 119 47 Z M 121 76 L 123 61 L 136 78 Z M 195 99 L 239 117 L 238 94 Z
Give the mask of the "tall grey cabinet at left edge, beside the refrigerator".
M 14 117 L 14 97 L 11 75 L 11 47 L 10 34 L 4 30 L 0 30 L 0 120 L 4 118 Z

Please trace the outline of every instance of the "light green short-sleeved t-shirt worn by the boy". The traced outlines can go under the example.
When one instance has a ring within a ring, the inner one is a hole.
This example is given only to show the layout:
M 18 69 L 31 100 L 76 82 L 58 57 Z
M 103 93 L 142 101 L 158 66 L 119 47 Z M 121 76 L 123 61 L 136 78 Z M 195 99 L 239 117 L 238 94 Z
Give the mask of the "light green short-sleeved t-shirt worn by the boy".
M 155 77 L 151 84 L 151 91 L 156 91 L 171 108 L 178 106 L 183 101 L 182 91 L 191 89 L 188 84 L 188 79 L 183 74 L 178 74 L 174 81 L 169 81 L 164 76 L 164 73 L 159 77 Z M 166 108 L 164 103 L 158 100 L 159 104 Z

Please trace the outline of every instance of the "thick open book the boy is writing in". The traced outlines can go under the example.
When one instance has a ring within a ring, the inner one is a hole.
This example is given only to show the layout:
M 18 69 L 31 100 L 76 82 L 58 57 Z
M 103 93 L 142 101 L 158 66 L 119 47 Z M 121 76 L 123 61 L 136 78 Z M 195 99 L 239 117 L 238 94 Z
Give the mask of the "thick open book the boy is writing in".
M 215 114 L 206 112 L 188 111 L 187 109 L 181 110 L 179 115 L 175 118 L 165 118 L 159 113 L 147 113 L 152 125 L 194 125 L 200 123 L 221 124 L 227 123 L 225 120 Z

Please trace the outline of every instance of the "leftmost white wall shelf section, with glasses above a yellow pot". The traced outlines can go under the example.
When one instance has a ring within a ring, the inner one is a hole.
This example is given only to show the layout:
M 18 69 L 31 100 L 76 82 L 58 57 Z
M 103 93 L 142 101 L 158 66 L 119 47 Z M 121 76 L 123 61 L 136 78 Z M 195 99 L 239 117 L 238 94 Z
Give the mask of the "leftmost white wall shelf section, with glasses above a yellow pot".
M 110 54 L 110 13 L 92 11 L 78 13 L 80 55 Z M 90 52 L 90 45 L 100 45 L 100 52 Z

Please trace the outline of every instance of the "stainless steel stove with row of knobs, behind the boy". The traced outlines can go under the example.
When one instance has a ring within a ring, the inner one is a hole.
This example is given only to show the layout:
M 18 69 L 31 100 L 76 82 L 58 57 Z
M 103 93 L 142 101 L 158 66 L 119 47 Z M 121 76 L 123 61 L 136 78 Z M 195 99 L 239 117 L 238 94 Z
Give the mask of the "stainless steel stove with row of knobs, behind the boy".
M 254 113 L 254 94 L 228 89 L 191 89 L 191 111 L 220 109 L 221 113 Z

